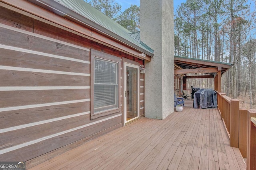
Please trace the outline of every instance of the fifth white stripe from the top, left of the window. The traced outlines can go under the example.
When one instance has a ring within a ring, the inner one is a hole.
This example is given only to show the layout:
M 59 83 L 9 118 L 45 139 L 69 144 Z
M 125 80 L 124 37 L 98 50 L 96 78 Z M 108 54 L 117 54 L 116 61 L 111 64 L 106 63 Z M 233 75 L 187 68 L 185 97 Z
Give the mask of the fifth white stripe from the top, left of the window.
M 73 101 L 60 101 L 60 102 L 44 103 L 44 104 L 37 104 L 37 105 L 4 107 L 4 108 L 0 108 L 0 112 L 15 111 L 15 110 L 20 110 L 20 109 L 30 109 L 30 108 L 36 108 L 36 107 L 54 106 L 54 105 L 65 105 L 65 104 L 70 104 L 70 103 L 80 103 L 80 102 L 86 102 L 86 101 L 90 101 L 90 99 L 73 100 Z

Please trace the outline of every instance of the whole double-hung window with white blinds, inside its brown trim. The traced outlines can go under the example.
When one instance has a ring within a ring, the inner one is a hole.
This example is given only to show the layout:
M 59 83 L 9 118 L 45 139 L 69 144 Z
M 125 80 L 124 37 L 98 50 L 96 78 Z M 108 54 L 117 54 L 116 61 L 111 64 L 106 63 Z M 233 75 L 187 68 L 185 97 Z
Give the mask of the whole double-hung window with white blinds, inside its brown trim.
M 94 112 L 118 107 L 118 63 L 94 58 Z

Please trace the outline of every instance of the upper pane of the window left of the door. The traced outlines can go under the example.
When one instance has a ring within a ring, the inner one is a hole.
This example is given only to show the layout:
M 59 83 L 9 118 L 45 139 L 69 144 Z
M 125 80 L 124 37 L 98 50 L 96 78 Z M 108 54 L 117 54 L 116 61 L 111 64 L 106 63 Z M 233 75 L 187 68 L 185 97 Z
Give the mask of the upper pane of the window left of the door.
M 95 59 L 94 83 L 117 84 L 117 63 Z

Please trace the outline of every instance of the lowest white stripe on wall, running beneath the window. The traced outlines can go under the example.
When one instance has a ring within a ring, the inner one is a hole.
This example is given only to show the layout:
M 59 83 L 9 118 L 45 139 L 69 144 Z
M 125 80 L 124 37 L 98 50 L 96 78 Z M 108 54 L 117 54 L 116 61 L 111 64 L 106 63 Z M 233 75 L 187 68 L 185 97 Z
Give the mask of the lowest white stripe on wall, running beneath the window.
M 22 144 L 19 144 L 19 145 L 16 145 L 16 146 L 12 146 L 10 148 L 6 148 L 6 149 L 3 149 L 3 150 L 0 150 L 0 154 L 4 154 L 4 153 L 7 153 L 7 152 L 16 150 L 16 149 L 20 149 L 20 148 L 23 148 L 25 146 L 29 146 L 31 144 L 35 144 L 35 143 L 41 142 L 42 140 L 50 139 L 50 138 L 53 138 L 55 136 L 59 136 L 59 135 L 62 135 L 62 134 L 68 133 L 68 132 L 72 132 L 74 130 L 78 130 L 80 128 L 88 127 L 90 125 L 95 125 L 97 123 L 101 123 L 103 121 L 107 121 L 107 120 L 110 120 L 110 119 L 113 119 L 113 118 L 116 118 L 116 117 L 119 117 L 119 116 L 122 116 L 122 114 L 115 115 L 115 116 L 112 116 L 112 117 L 108 117 L 106 119 L 102 119 L 102 120 L 95 121 L 95 122 L 92 122 L 92 123 L 88 123 L 86 125 L 83 125 L 83 126 L 80 126 L 80 127 L 76 127 L 76 128 L 72 128 L 72 129 L 69 129 L 69 130 L 65 130 L 65 131 L 62 131 L 62 132 L 59 132 L 59 133 L 56 133 L 56 134 L 45 136 L 45 137 L 42 137 L 42 138 L 39 138 L 39 139 L 36 139 L 36 140 L 32 140 L 30 142 L 26 142 L 26 143 L 22 143 Z

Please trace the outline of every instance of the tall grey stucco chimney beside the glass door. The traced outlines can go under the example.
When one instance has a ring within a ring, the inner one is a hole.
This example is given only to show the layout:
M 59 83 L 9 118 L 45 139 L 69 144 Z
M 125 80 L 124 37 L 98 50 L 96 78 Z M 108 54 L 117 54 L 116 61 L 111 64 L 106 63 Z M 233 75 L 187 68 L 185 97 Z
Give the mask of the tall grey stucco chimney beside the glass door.
M 173 0 L 140 0 L 140 38 L 154 49 L 145 63 L 145 117 L 164 119 L 174 112 Z

